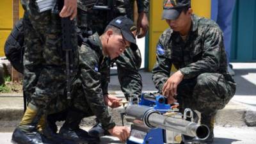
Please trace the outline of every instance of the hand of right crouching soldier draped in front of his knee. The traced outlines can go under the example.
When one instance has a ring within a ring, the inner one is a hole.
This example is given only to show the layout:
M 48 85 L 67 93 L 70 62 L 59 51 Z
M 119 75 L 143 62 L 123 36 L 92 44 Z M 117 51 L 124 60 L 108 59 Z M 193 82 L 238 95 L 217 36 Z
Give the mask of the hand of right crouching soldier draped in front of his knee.
M 177 87 L 183 79 L 183 74 L 178 70 L 170 76 L 164 83 L 162 94 L 168 97 L 168 102 L 176 102 L 174 97 L 177 95 Z

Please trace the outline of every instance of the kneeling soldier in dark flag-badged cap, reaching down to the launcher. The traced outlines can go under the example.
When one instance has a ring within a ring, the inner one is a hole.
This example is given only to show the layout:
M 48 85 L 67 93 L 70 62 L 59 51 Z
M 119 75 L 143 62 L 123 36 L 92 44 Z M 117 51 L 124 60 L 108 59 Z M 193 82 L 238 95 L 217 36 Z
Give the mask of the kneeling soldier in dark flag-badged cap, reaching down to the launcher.
M 93 115 L 97 116 L 104 130 L 117 136 L 120 141 L 128 138 L 129 128 L 115 126 L 108 113 L 109 103 L 112 103 L 112 108 L 116 108 L 120 106 L 120 100 L 104 101 L 102 68 L 108 67 L 110 59 L 118 57 L 130 44 L 136 47 L 135 35 L 136 26 L 132 20 L 117 17 L 109 23 L 101 36 L 95 33 L 79 47 L 79 72 L 77 81 L 72 86 L 72 104 L 68 109 L 65 124 L 60 129 L 63 138 L 88 141 L 88 134 L 79 129 L 79 123 L 81 118 Z

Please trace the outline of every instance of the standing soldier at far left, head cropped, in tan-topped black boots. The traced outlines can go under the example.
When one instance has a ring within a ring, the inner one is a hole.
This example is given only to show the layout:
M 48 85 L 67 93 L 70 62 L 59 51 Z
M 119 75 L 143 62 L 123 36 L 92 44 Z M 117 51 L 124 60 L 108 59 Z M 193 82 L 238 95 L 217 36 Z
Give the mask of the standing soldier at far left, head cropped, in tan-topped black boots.
M 24 10 L 24 93 L 29 95 L 28 108 L 12 136 L 14 143 L 56 143 L 39 132 L 45 125 L 48 106 L 66 83 L 65 57 L 61 58 L 61 17 L 74 19 L 76 0 L 65 0 L 60 13 L 39 12 L 36 1 L 20 1 Z M 76 35 L 72 35 L 77 45 Z M 74 56 L 73 56 L 74 57 Z M 77 63 L 77 57 L 74 57 Z M 76 67 L 74 63 L 74 67 Z M 72 63 L 73 64 L 73 63 Z

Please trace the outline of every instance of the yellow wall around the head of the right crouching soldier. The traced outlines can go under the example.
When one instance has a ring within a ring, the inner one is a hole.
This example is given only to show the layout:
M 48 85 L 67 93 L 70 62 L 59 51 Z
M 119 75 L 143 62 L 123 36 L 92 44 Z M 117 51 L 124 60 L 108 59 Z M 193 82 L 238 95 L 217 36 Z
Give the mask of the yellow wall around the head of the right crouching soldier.
M 211 17 L 211 0 L 191 0 L 191 7 L 196 15 Z M 150 31 L 148 49 L 148 70 L 152 70 L 156 63 L 156 44 L 159 36 L 168 28 L 164 20 L 161 20 L 163 1 L 150 1 Z

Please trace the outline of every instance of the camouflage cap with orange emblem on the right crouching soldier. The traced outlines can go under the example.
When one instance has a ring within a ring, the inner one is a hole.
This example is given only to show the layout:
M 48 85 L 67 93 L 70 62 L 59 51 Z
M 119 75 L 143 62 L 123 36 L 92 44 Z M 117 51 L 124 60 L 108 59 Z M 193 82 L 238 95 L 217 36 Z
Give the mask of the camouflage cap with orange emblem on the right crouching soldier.
M 164 0 L 162 19 L 175 20 L 186 7 L 190 7 L 190 0 Z

